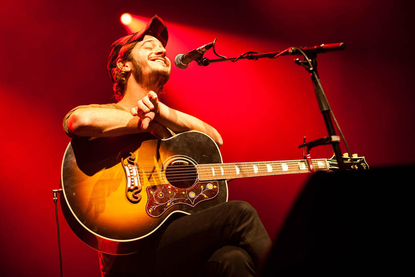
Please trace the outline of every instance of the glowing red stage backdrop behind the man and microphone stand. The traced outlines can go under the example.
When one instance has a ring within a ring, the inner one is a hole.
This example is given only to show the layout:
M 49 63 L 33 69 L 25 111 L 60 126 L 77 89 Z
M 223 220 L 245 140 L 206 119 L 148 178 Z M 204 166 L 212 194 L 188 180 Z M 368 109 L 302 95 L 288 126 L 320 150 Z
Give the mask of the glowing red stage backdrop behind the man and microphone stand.
M 52 189 L 59 185 L 69 142 L 62 118 L 74 106 L 113 101 L 106 61 L 111 43 L 127 34 L 119 22 L 125 12 L 158 14 L 167 22 L 171 60 L 215 37 L 218 53 L 229 57 L 344 42 L 345 51 L 319 55 L 318 70 L 352 152 L 366 156 L 371 167 L 415 163 L 413 9 L 405 1 L 199 3 L 2 4 L 0 263 L 5 276 L 59 274 Z M 303 136 L 326 135 L 310 77 L 293 57 L 173 68 L 162 101 L 216 127 L 224 140 L 224 162 L 301 159 L 297 146 Z M 330 146 L 312 151 L 314 158 L 331 154 Z M 251 203 L 275 240 L 308 178 L 235 180 L 229 197 Z M 97 252 L 72 233 L 60 208 L 59 219 L 64 275 L 99 276 Z

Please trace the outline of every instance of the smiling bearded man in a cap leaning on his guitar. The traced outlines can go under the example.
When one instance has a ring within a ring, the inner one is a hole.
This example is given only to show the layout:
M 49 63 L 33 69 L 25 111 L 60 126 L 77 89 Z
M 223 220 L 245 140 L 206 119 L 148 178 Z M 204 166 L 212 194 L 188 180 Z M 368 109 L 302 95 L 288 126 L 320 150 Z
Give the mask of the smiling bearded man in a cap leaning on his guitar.
M 159 138 L 196 130 L 222 145 L 218 131 L 158 100 L 171 62 L 168 31 L 154 16 L 139 32 L 114 42 L 108 61 L 117 103 L 79 106 L 64 119 L 71 137 L 114 137 L 151 132 Z M 254 276 L 271 241 L 256 211 L 233 201 L 170 217 L 131 255 L 100 254 L 103 276 Z

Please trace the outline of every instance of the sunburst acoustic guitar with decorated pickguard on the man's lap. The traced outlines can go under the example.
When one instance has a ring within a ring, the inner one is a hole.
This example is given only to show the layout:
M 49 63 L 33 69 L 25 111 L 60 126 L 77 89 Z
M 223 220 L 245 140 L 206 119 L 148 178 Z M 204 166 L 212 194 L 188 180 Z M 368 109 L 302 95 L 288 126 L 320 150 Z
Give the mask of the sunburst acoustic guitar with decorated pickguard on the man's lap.
M 355 169 L 368 169 L 364 157 Z M 62 211 L 74 233 L 108 254 L 137 252 L 142 239 L 174 213 L 191 214 L 228 200 L 235 178 L 331 171 L 331 159 L 223 164 L 215 141 L 189 131 L 75 138 L 62 163 Z

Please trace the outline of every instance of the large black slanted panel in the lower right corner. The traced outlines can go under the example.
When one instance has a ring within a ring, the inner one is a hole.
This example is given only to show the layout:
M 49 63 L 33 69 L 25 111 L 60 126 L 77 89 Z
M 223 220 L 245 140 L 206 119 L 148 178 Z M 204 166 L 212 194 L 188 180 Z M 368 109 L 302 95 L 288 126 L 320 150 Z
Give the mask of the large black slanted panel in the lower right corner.
M 412 168 L 313 175 L 264 276 L 403 272 L 413 246 Z

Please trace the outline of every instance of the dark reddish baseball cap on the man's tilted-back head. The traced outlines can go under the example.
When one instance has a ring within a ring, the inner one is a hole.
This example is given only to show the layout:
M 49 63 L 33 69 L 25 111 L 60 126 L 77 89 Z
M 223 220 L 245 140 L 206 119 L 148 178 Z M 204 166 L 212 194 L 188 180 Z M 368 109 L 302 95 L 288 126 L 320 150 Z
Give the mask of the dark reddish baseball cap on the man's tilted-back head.
M 144 26 L 140 31 L 117 39 L 117 41 L 115 41 L 111 45 L 111 52 L 109 53 L 107 65 L 107 69 L 112 82 L 114 82 L 114 79 L 111 74 L 111 70 L 116 66 L 118 53 L 121 47 L 127 44 L 142 41 L 146 34 L 152 35 L 155 38 L 157 38 L 161 42 L 163 47 L 167 45 L 167 41 L 169 39 L 169 32 L 167 30 L 167 26 L 165 26 L 164 21 L 157 15 L 153 16 L 153 18 L 151 18 L 150 21 L 147 22 L 147 25 Z

